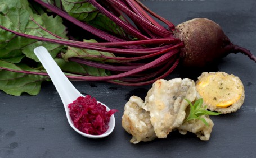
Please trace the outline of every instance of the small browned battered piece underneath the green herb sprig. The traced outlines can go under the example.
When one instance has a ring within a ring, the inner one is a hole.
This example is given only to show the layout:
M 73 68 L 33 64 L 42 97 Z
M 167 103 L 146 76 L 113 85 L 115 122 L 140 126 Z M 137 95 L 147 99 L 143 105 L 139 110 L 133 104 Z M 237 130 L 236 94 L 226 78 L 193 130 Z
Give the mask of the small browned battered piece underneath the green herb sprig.
M 182 126 L 178 127 L 179 133 L 185 135 L 188 132 L 195 133 L 200 140 L 207 141 L 210 138 L 210 133 L 213 129 L 213 121 L 207 115 L 200 116 L 204 118 L 209 126 L 206 126 L 203 121 L 199 119 L 189 120 L 182 124 Z

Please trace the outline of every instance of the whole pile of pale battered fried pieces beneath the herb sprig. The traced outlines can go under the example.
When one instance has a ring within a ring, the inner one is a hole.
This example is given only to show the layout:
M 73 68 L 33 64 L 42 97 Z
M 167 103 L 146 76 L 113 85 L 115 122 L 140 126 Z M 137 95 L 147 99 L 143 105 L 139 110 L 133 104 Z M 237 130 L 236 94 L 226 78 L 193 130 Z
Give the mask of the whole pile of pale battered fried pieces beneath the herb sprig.
M 147 92 L 145 102 L 132 96 L 124 107 L 122 126 L 132 134 L 130 142 L 151 141 L 165 138 L 169 132 L 178 129 L 179 133 L 195 133 L 201 140 L 209 140 L 213 121 L 207 115 L 204 118 L 208 126 L 199 119 L 186 121 L 190 106 L 185 100 L 194 102 L 197 97 L 196 86 L 188 78 L 157 80 Z

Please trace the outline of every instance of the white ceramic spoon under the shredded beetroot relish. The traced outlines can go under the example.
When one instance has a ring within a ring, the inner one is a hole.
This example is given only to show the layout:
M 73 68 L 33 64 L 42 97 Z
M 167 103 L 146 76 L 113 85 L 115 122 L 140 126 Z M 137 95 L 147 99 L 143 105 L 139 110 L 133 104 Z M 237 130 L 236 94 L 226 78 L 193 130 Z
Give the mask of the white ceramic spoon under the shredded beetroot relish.
M 60 98 L 64 104 L 64 108 L 66 111 L 66 117 L 68 118 L 68 122 L 70 126 L 77 131 L 79 134 L 81 134 L 84 137 L 88 138 L 103 138 L 106 136 L 109 136 L 109 134 L 113 131 L 115 127 L 115 117 L 114 115 L 111 115 L 110 122 L 109 122 L 109 129 L 101 135 L 91 135 L 86 134 L 81 131 L 79 131 L 77 128 L 75 128 L 73 121 L 70 118 L 69 115 L 69 108 L 68 104 L 72 103 L 74 100 L 76 100 L 79 96 L 83 96 L 80 94 L 80 92 L 75 89 L 75 87 L 72 85 L 72 83 L 69 81 L 69 79 L 64 75 L 64 73 L 61 71 L 60 67 L 57 65 L 57 63 L 53 60 L 50 53 L 47 51 L 46 48 L 43 46 L 39 46 L 34 49 L 35 55 L 37 55 L 37 58 L 39 61 L 43 64 L 44 69 L 46 69 L 48 75 L 50 76 L 53 84 L 55 85 Z M 100 103 L 100 102 L 98 102 Z M 102 104 L 102 103 L 101 103 Z M 102 104 L 106 106 L 105 104 Z M 110 109 L 106 106 L 107 111 Z

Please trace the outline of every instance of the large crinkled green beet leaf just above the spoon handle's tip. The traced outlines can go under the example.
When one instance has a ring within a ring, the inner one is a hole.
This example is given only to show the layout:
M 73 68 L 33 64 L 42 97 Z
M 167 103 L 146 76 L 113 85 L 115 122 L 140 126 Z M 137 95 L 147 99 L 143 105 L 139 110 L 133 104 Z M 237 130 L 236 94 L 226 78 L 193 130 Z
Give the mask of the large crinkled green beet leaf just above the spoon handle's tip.
M 62 24 L 62 19 L 59 16 L 47 16 L 46 13 L 43 15 L 35 15 L 31 10 L 25 10 L 25 8 L 28 8 L 28 3 L 25 3 L 25 5 L 21 4 L 23 1 L 19 3 L 19 1 L 16 0 L 14 2 L 17 3 L 18 7 L 11 6 L 12 3 L 10 3 L 10 6 L 8 6 L 9 3 L 2 3 L 1 6 L 4 8 L 8 7 L 8 9 L 5 9 L 8 10 L 8 12 L 6 12 L 5 15 L 0 15 L 0 25 L 24 34 L 52 39 L 57 39 L 57 37 L 55 37 L 55 35 L 57 35 L 60 38 L 66 39 L 66 27 Z M 45 46 L 53 57 L 64 48 L 64 46 L 59 44 L 44 43 L 33 39 L 18 37 L 2 29 L 0 31 L 2 35 L 0 38 L 1 59 L 20 57 L 22 54 L 25 54 L 26 57 L 39 62 L 33 52 L 35 47 L 39 45 Z

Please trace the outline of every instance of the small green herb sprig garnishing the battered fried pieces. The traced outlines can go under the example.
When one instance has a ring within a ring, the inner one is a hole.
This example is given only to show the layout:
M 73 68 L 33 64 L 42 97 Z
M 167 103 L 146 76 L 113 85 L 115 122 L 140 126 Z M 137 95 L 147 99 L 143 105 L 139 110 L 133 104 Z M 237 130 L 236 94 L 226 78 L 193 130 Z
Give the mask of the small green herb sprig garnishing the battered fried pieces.
M 204 122 L 206 126 L 209 126 L 209 124 L 206 122 L 204 118 L 201 118 L 201 115 L 219 115 L 221 113 L 208 111 L 206 109 L 206 106 L 202 107 L 203 105 L 203 99 L 200 98 L 196 100 L 194 105 L 192 105 L 191 101 L 185 99 L 188 104 L 190 104 L 190 114 L 188 115 L 186 121 L 192 120 L 192 119 L 199 119 Z

